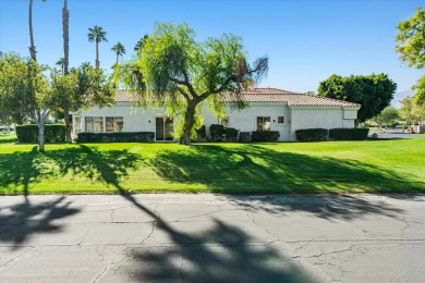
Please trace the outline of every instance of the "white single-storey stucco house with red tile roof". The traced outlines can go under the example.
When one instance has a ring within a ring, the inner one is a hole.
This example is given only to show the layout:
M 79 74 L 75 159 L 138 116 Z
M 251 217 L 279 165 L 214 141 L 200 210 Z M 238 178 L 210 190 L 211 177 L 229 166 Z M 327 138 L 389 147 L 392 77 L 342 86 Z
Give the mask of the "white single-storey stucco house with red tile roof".
M 227 121 L 219 121 L 203 111 L 204 124 L 226 123 L 240 132 L 278 131 L 279 140 L 295 140 L 301 128 L 354 127 L 360 104 L 295 94 L 276 88 L 252 88 L 244 95 L 248 107 L 244 110 L 227 108 Z M 111 108 L 94 107 L 73 113 L 73 136 L 80 132 L 154 132 L 157 142 L 173 140 L 173 120 L 165 109 L 138 109 L 132 97 L 118 90 Z M 228 101 L 229 103 L 232 101 Z

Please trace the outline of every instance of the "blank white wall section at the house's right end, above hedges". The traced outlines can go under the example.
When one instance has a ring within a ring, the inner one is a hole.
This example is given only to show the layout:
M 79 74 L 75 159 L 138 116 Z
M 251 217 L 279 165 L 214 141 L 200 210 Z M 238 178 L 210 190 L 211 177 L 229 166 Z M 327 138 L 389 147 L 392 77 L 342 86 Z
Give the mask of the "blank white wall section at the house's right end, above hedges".
M 354 127 L 357 110 L 342 107 L 291 107 L 290 140 L 296 140 L 295 131 L 301 128 Z

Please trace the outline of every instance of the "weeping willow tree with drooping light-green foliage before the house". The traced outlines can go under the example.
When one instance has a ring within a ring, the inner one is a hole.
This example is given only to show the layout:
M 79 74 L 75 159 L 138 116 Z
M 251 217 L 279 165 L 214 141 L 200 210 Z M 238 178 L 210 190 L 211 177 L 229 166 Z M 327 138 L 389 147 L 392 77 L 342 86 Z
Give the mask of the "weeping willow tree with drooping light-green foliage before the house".
M 117 66 L 116 79 L 137 95 L 142 107 L 165 107 L 177 118 L 174 137 L 190 145 L 203 121 L 201 106 L 206 102 L 222 115 L 224 101 L 242 109 L 243 90 L 258 82 L 268 70 L 266 57 L 252 65 L 246 62 L 242 39 L 224 34 L 198 42 L 186 25 L 162 23 L 146 38 L 135 61 Z

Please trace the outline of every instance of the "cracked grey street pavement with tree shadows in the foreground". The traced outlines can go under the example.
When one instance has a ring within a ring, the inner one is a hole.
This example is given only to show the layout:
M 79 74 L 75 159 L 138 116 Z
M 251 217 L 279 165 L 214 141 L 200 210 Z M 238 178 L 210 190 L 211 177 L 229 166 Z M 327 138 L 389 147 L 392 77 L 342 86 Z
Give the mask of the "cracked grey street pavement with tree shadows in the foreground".
M 0 282 L 425 282 L 425 195 L 0 197 Z

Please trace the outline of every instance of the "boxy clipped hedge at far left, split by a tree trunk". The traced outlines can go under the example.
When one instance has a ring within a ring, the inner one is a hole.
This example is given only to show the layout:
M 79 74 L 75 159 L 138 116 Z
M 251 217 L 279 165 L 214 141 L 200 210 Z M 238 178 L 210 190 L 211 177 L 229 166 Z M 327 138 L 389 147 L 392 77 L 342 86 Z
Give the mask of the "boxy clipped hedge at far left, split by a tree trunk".
M 38 126 L 34 124 L 20 125 L 15 127 L 19 143 L 37 144 Z M 66 128 L 63 124 L 45 125 L 45 143 L 64 143 Z

